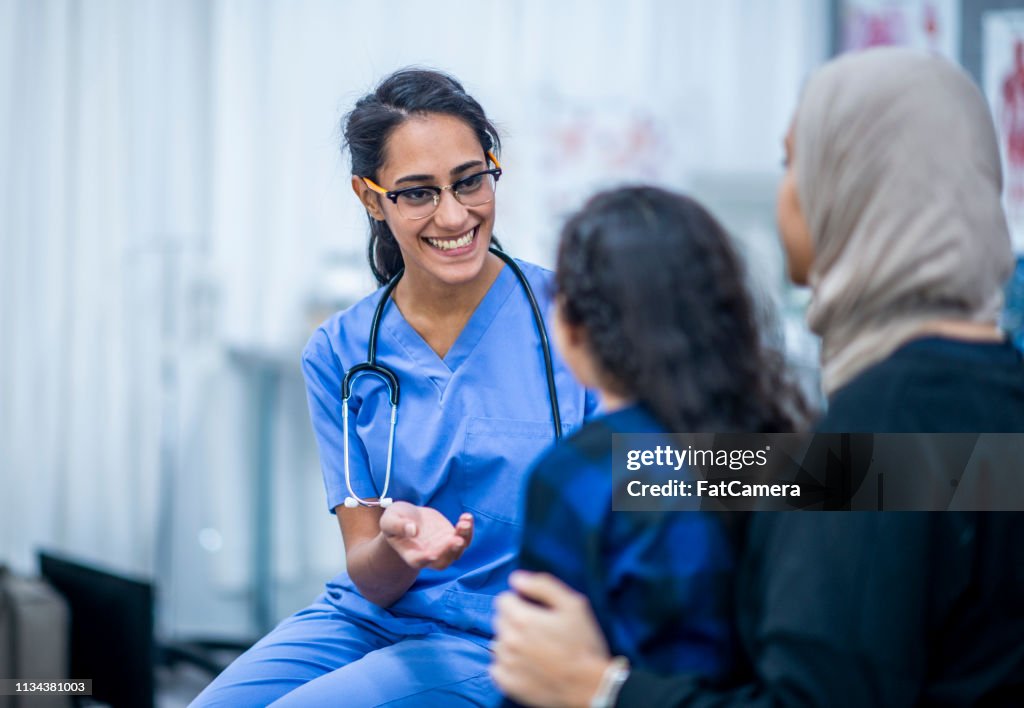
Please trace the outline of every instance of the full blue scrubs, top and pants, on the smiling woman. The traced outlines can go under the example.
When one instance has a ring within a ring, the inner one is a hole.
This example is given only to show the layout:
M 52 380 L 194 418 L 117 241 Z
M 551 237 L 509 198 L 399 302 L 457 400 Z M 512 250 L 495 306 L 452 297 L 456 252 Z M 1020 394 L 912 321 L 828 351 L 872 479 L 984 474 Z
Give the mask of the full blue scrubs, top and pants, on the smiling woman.
M 519 264 L 550 321 L 551 273 Z M 341 379 L 367 360 L 380 296 L 379 290 L 324 323 L 303 355 L 332 510 L 348 494 Z M 562 429 L 570 432 L 596 409 L 596 399 L 553 356 Z M 315 605 L 243 655 L 196 705 L 218 705 L 221 698 L 225 705 L 266 705 L 298 685 L 296 705 L 379 705 L 413 696 L 409 705 L 462 705 L 455 695 L 468 705 L 482 705 L 477 701 L 484 696 L 497 701 L 486 676 L 494 597 L 507 588 L 514 567 L 526 470 L 554 442 L 540 340 L 515 274 L 502 268 L 443 360 L 389 302 L 378 363 L 400 384 L 388 496 L 431 506 L 453 522 L 471 512 L 472 543 L 450 568 L 422 571 L 387 610 L 339 574 Z M 352 488 L 360 497 L 383 489 L 390 411 L 384 383 L 360 377 L 348 421 Z M 355 684 L 364 693 L 348 694 Z M 291 700 L 289 694 L 282 705 Z

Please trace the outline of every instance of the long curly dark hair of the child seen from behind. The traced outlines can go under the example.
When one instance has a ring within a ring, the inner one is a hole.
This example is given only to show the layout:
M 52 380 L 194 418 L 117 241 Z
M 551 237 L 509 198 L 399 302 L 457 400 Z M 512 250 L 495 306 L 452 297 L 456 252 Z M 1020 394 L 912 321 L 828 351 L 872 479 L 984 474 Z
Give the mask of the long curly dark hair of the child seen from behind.
M 677 432 L 786 432 L 806 406 L 763 345 L 740 261 L 697 202 L 603 192 L 562 228 L 555 286 L 606 385 Z

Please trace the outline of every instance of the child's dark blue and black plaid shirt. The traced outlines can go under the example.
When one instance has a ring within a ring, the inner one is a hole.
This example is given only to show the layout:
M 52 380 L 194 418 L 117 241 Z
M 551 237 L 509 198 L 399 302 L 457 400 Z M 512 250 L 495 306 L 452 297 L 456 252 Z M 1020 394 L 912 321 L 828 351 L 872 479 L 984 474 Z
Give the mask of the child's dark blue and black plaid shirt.
M 709 511 L 612 511 L 612 435 L 665 433 L 633 406 L 589 422 L 530 473 L 520 564 L 587 595 L 613 654 L 723 678 L 735 668 L 736 550 Z

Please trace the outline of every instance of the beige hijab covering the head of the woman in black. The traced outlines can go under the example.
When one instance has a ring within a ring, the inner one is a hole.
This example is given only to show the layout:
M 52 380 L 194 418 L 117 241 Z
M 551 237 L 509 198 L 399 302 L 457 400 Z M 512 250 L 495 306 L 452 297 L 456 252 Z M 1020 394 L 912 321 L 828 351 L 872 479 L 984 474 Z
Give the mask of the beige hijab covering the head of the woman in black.
M 794 127 L 831 394 L 937 320 L 995 323 L 1013 261 L 992 118 L 941 57 L 883 48 L 815 72 Z

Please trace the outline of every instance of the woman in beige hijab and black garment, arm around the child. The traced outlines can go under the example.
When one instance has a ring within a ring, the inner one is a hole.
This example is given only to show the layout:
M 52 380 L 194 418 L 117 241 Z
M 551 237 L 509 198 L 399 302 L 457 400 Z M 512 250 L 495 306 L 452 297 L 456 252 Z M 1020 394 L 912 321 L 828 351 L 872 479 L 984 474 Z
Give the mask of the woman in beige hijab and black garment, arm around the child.
M 779 231 L 822 337 L 819 429 L 1024 432 L 1024 363 L 996 326 L 999 158 L 971 79 L 906 49 L 842 56 L 808 81 L 786 147 Z M 586 599 L 544 574 L 515 589 L 496 676 L 530 705 L 1024 705 L 1020 512 L 755 514 L 736 590 L 751 670 L 727 685 L 584 684 L 579 667 L 615 667 Z

